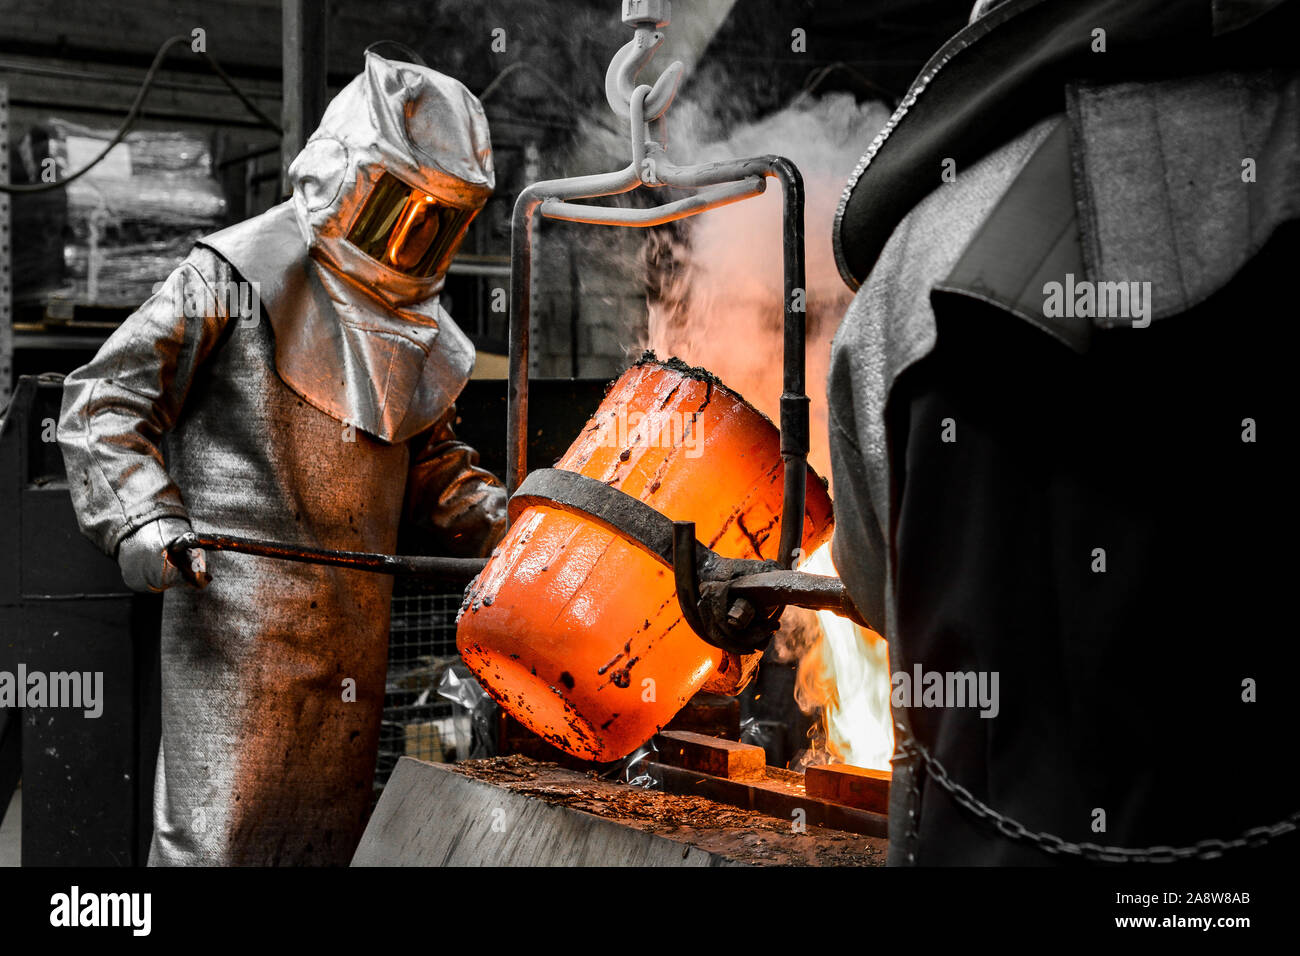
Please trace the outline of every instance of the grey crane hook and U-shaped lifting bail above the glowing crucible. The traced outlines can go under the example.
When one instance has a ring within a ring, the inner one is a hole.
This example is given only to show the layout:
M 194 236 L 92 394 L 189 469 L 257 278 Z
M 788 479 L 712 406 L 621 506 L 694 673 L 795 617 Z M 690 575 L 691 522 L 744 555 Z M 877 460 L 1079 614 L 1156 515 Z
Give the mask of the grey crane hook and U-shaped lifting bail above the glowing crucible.
M 803 537 L 807 483 L 809 398 L 805 392 L 806 280 L 803 250 L 803 179 L 781 156 L 679 166 L 664 146 L 664 113 L 672 104 L 682 65 L 672 64 L 654 86 L 633 86 L 636 74 L 663 43 L 656 27 L 668 22 L 666 0 L 624 0 L 623 21 L 636 35 L 610 61 L 606 98 L 627 116 L 632 163 L 624 169 L 534 182 L 515 202 L 511 224 L 510 401 L 507 405 L 506 488 L 514 493 L 528 475 L 528 352 L 532 321 L 533 220 L 646 228 L 694 216 L 759 195 L 767 178 L 781 183 L 784 246 L 784 381 L 781 460 L 785 464 L 781 536 L 777 561 L 793 567 Z M 571 202 L 629 193 L 640 186 L 698 190 L 692 196 L 651 208 L 590 206 Z

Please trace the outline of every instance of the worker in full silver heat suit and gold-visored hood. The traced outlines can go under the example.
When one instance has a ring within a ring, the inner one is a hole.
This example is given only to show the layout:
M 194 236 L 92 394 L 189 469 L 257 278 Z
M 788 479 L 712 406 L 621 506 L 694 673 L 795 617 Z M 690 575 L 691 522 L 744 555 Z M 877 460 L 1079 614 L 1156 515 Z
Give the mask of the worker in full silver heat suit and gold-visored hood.
M 151 865 L 348 862 L 391 596 L 384 575 L 233 553 L 200 591 L 166 545 L 192 527 L 391 553 L 411 522 L 473 557 L 506 525 L 451 429 L 474 350 L 438 304 L 493 190 L 482 107 L 368 53 L 289 173 L 289 202 L 203 239 L 64 386 L 82 531 L 130 587 L 170 588 Z

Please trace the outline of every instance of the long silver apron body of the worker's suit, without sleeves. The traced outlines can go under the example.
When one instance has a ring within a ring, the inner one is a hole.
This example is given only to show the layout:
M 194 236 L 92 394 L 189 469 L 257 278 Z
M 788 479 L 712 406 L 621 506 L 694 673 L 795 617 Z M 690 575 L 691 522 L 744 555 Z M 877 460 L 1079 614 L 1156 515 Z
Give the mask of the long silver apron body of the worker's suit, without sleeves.
M 228 330 L 168 440 L 194 527 L 393 553 L 407 446 L 344 436 L 286 388 L 268 323 Z M 208 567 L 207 591 L 164 601 L 150 862 L 344 864 L 370 800 L 391 579 L 231 553 Z

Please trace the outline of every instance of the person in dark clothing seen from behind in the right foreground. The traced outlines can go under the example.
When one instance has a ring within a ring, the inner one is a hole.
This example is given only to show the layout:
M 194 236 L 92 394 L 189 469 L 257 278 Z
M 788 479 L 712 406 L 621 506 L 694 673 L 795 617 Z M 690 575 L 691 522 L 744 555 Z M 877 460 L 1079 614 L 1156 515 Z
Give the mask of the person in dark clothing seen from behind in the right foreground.
M 1297 22 L 982 4 L 849 182 L 833 551 L 893 864 L 1300 855 Z

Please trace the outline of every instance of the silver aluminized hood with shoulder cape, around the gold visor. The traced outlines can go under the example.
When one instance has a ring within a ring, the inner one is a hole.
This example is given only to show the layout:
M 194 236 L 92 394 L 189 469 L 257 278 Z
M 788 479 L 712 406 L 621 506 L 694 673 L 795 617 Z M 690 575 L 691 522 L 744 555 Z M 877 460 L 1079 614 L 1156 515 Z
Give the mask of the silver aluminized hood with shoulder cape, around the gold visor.
M 259 284 L 285 384 L 339 421 L 398 442 L 455 402 L 474 349 L 438 303 L 443 273 L 408 276 L 347 241 L 385 173 L 469 209 L 495 178 L 473 94 L 425 66 L 367 53 L 365 70 L 290 165 L 292 198 L 202 245 Z

